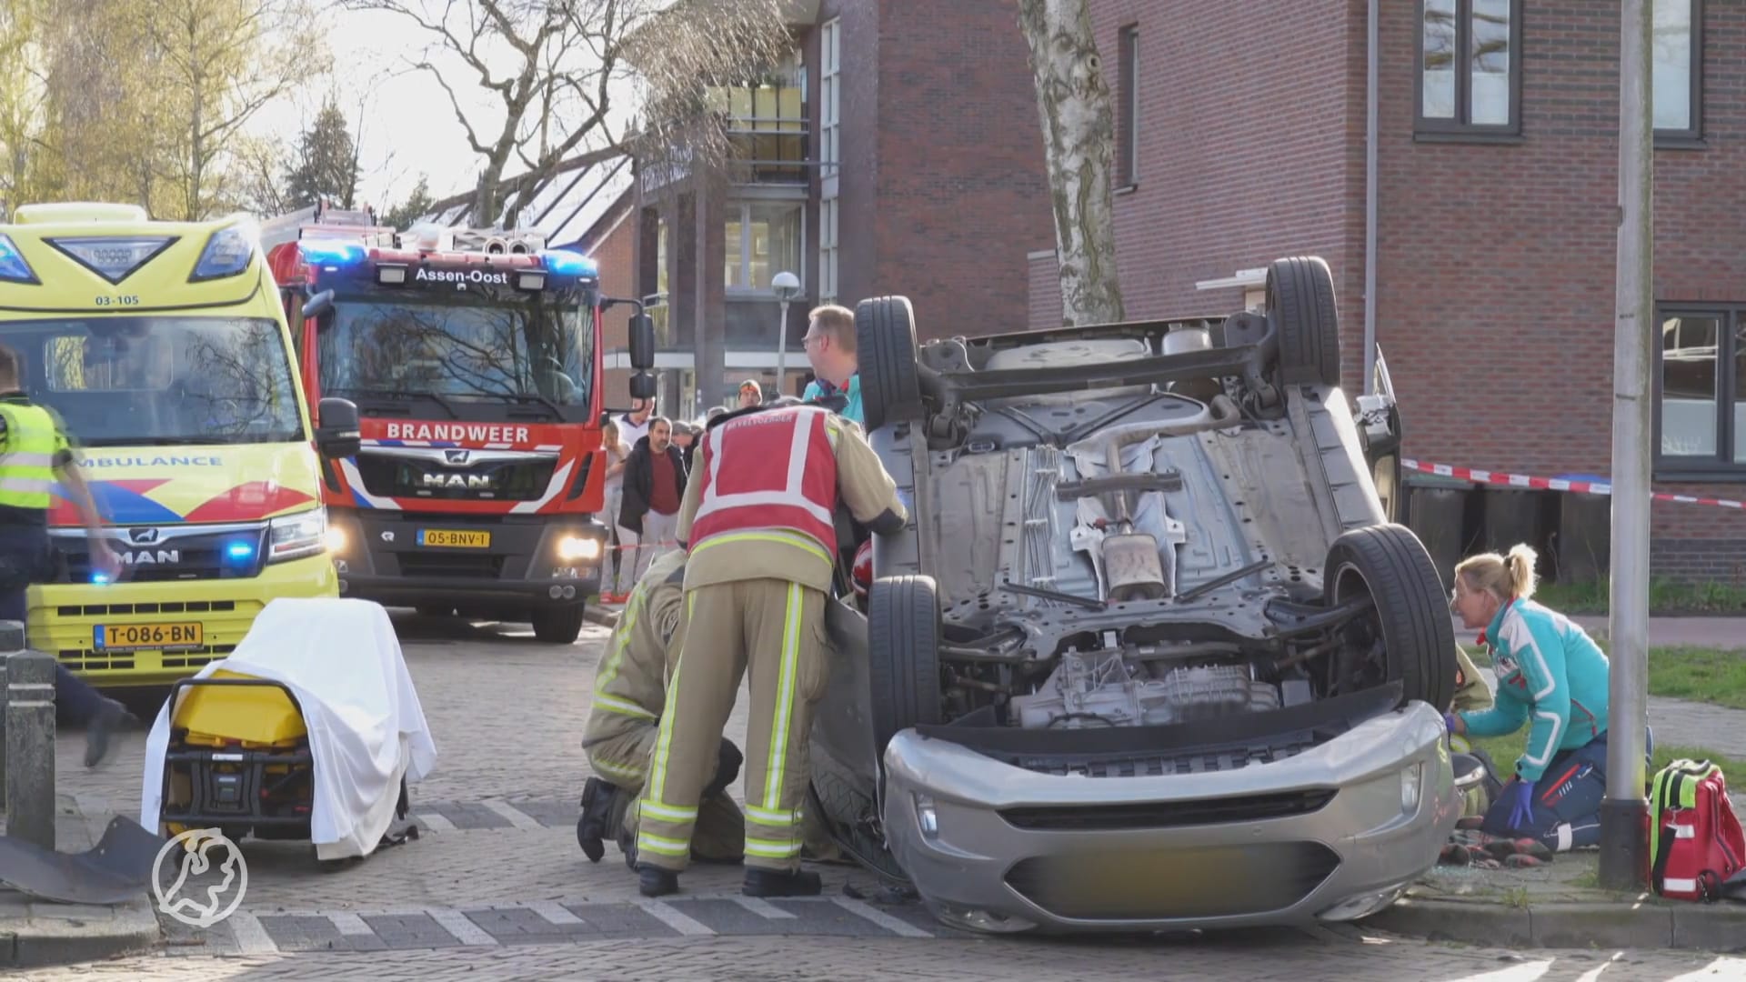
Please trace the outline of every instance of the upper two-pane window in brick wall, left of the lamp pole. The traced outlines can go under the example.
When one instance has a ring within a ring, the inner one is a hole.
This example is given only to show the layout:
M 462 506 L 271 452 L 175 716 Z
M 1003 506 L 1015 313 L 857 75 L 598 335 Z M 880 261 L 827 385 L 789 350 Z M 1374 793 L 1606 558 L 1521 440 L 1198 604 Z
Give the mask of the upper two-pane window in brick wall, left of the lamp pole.
M 1521 0 L 1419 0 L 1418 129 L 1521 133 Z

